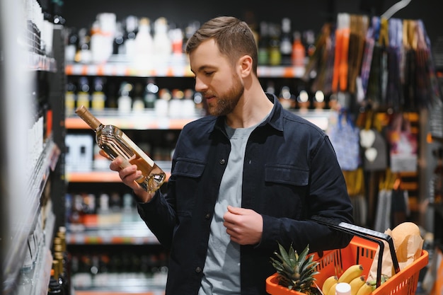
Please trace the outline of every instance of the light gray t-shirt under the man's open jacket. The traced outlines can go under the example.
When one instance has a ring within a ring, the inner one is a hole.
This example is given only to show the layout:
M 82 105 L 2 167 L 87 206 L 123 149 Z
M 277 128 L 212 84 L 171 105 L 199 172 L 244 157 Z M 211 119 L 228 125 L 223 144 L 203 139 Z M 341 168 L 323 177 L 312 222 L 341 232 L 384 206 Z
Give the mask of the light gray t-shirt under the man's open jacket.
M 222 178 L 219 197 L 212 217 L 208 252 L 199 295 L 240 294 L 240 245 L 231 242 L 226 228 L 223 226 L 223 215 L 226 213 L 228 205 L 241 207 L 246 143 L 249 135 L 257 126 L 233 129 L 225 125 L 226 133 L 231 140 L 231 154 L 229 154 L 229 161 Z

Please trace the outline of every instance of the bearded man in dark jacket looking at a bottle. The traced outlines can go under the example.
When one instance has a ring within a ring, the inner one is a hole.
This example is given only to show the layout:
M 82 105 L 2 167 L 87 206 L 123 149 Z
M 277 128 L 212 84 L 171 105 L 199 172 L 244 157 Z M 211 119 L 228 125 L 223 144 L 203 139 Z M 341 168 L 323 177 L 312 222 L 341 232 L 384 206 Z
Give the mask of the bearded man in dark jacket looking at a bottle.
M 352 222 L 345 180 L 326 134 L 263 91 L 246 23 L 214 18 L 186 51 L 210 115 L 180 133 L 167 194 L 142 190 L 137 166 L 117 158 L 110 168 L 170 250 L 166 295 L 266 294 L 277 241 L 298 251 L 349 243 L 309 219 Z

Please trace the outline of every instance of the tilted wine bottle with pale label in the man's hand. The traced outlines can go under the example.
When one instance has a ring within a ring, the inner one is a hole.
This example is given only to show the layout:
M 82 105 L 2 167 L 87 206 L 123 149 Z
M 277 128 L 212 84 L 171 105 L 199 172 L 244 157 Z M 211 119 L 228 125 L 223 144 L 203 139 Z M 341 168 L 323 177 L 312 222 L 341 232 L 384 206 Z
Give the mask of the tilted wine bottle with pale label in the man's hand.
M 161 187 L 166 180 L 166 174 L 121 129 L 114 125 L 103 125 L 84 105 L 76 109 L 76 114 L 96 132 L 98 146 L 110 158 L 120 156 L 124 160 L 122 168 L 137 165 L 142 171 L 142 176 L 136 181 L 146 192 L 155 192 Z

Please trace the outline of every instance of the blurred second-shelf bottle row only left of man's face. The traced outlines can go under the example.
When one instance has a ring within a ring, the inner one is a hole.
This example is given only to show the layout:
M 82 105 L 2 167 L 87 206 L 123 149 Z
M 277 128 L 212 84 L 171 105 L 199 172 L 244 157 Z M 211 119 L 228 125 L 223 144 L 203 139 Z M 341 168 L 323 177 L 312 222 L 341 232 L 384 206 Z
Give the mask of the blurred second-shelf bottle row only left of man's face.
M 159 88 L 153 78 L 143 83 L 122 81 L 116 88 L 115 83 L 107 83 L 104 77 L 69 77 L 65 94 L 67 116 L 73 115 L 80 105 L 93 112 L 115 109 L 123 115 L 154 110 L 159 117 L 193 117 L 205 112 L 200 93 L 191 88 Z

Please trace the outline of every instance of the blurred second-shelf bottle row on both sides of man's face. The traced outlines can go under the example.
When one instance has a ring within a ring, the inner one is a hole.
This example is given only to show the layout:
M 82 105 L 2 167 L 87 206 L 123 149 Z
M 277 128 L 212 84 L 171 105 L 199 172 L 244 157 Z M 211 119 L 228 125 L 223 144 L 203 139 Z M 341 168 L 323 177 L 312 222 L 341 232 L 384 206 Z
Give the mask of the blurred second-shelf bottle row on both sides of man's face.
M 206 115 L 205 101 L 202 94 L 192 88 L 159 88 L 154 78 L 145 81 L 132 79 L 122 81 L 120 86 L 105 77 L 71 76 L 68 78 L 65 106 L 67 117 L 74 115 L 80 105 L 100 111 L 116 110 L 118 115 L 137 115 L 146 110 L 153 110 L 152 115 L 168 118 L 189 118 Z M 322 91 L 311 93 L 306 85 L 292 85 L 263 81 L 263 88 L 274 93 L 288 109 L 324 109 L 330 108 L 325 103 Z

